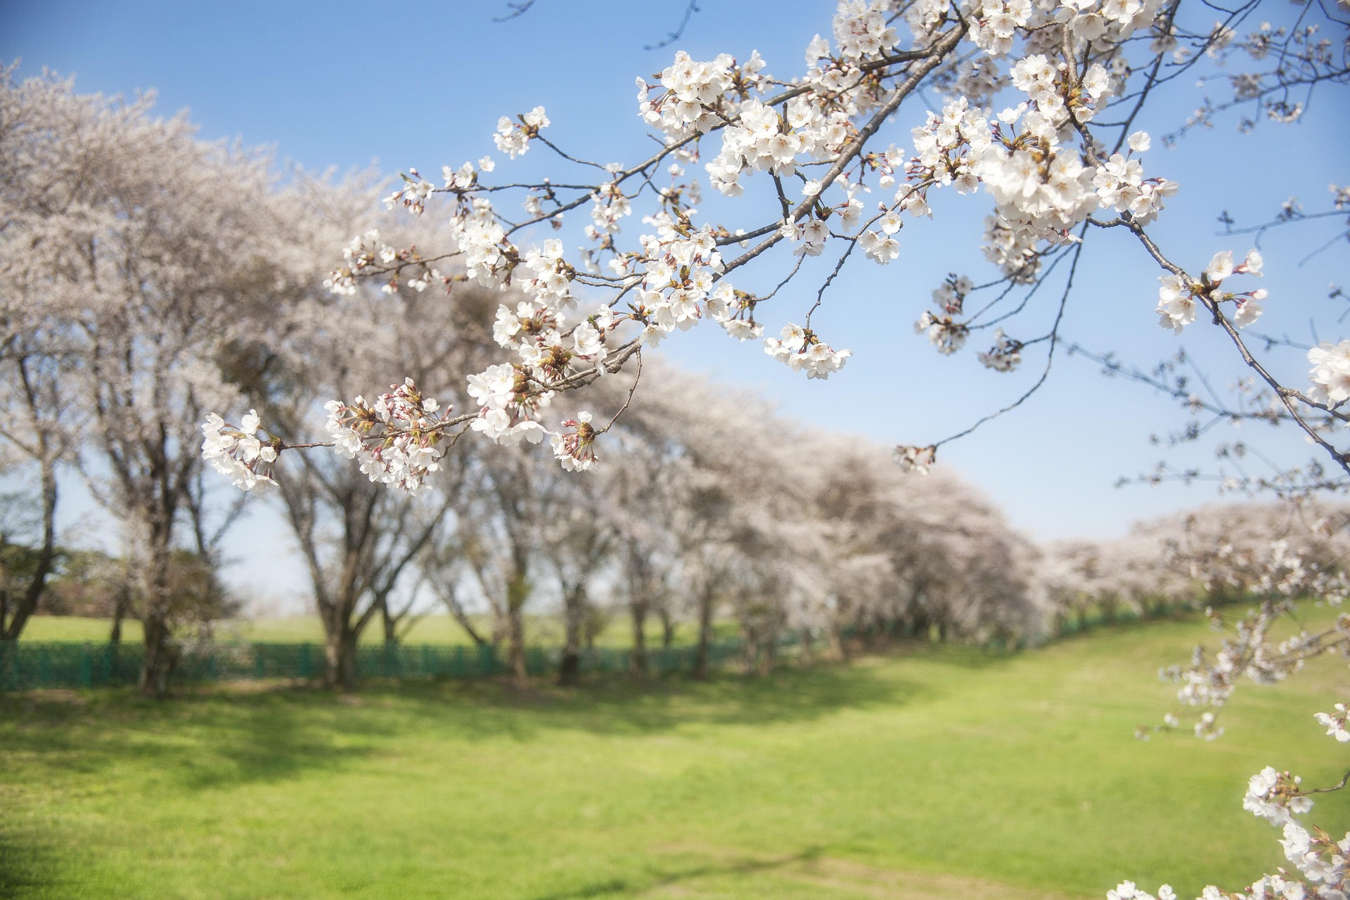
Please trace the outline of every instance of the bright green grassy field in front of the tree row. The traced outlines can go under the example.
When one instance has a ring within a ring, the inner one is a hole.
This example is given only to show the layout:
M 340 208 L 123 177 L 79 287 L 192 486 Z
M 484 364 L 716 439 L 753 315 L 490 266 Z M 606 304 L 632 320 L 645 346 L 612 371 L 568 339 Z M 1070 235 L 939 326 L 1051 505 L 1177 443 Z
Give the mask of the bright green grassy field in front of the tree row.
M 1183 897 L 1282 854 L 1241 808 L 1330 783 L 1345 668 L 1243 687 L 1214 743 L 1139 742 L 1195 622 L 1018 656 L 575 692 L 493 684 L 0 696 L 0 897 Z M 1315 820 L 1350 826 L 1350 803 Z

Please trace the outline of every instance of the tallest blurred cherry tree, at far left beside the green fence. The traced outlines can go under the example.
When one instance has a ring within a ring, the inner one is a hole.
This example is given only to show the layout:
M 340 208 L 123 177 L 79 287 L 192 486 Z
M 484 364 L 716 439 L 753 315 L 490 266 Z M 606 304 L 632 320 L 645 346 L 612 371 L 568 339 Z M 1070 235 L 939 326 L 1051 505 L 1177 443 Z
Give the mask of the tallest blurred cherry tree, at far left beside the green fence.
M 190 546 L 211 564 L 220 537 L 202 518 L 198 437 L 209 407 L 238 402 L 220 362 L 313 279 L 292 279 L 288 255 L 273 252 L 293 232 L 270 158 L 198 142 L 182 116 L 150 119 L 153 97 L 80 96 L 12 70 L 0 97 L 12 173 L 0 302 L 22 389 L 5 432 L 39 468 L 45 534 L 62 459 L 126 524 L 142 580 L 142 690 L 163 695 L 176 623 L 197 618 L 174 596 L 174 553 Z

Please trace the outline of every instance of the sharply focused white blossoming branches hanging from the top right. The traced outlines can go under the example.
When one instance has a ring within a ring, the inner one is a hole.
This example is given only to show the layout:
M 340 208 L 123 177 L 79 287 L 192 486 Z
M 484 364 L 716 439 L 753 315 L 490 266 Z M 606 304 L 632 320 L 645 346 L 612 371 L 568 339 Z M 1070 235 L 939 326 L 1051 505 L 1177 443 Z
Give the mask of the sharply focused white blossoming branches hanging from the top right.
M 575 425 L 552 425 L 556 399 L 705 320 L 738 340 L 761 340 L 768 355 L 807 378 L 828 378 L 850 356 L 811 324 L 832 282 L 855 251 L 876 264 L 895 262 L 906 221 L 932 217 L 932 193 L 946 190 L 992 201 L 983 251 L 999 277 L 976 285 L 953 275 L 934 291 L 938 309 L 923 312 L 915 328 L 940 352 L 956 352 L 973 332 L 990 328 L 990 348 L 979 354 L 984 366 L 1011 371 L 1029 348 L 1045 344 L 1048 367 L 1087 233 L 1123 229 L 1164 270 L 1161 324 L 1180 333 L 1202 312 L 1212 318 L 1276 391 L 1282 414 L 1343 468 L 1350 466 L 1308 421 L 1310 414 L 1345 418 L 1336 409 L 1350 397 L 1345 345 L 1310 354 L 1316 367 L 1308 393 L 1280 385 L 1250 359 L 1239 333 L 1261 314 L 1265 291 L 1247 283 L 1230 289 L 1231 279 L 1261 274 L 1260 254 L 1246 252 L 1234 263 L 1234 252 L 1223 251 L 1191 275 L 1146 232 L 1177 190 L 1146 171 L 1153 142 L 1133 128 L 1160 84 L 1200 61 L 1226 63 L 1245 55 L 1260 62 L 1278 51 L 1282 63 L 1274 72 L 1234 76 L 1234 101 L 1254 100 L 1268 117 L 1292 120 L 1303 109 L 1291 104 L 1292 92 L 1350 78 L 1346 47 L 1320 36 L 1314 24 L 1289 30 L 1265 23 L 1238 40 L 1237 28 L 1253 7 L 1227 11 L 1211 27 L 1191 22 L 1181 0 L 841 0 L 833 39 L 817 35 L 806 49 L 805 70 L 794 78 L 771 76 L 757 53 L 745 61 L 726 54 L 697 61 L 678 53 L 653 81 L 637 78 L 637 113 L 659 132 L 662 147 L 636 165 L 566 154 L 547 138 L 551 120 L 543 107 L 504 116 L 493 135 L 500 152 L 514 159 L 539 143 L 583 175 L 487 184 L 497 166 L 485 157 L 446 166 L 443 184 L 435 185 L 410 169 L 386 205 L 420 215 L 443 194 L 450 246 L 427 254 L 367 232 L 352 240 L 344 263 L 325 282 L 338 293 L 356 290 L 366 278 L 382 279 L 386 290 L 451 290 L 466 281 L 510 289 L 494 327 L 501 362 L 468 378 L 477 409 L 435 421 L 421 413 L 381 418 L 381 434 L 393 443 L 387 452 L 360 456 L 363 471 L 414 488 L 435 467 L 431 436 L 456 426 L 498 443 L 540 443 L 548 436 L 564 467 L 589 470 L 593 443 L 608 426 L 567 414 L 560 418 Z M 1336 22 L 1334 11 L 1314 12 Z M 903 121 L 921 90 L 945 100 L 917 117 L 911 148 L 883 146 L 879 131 Z M 713 189 L 742 197 L 749 221 L 733 228 L 699 216 L 697 163 Z M 1336 190 L 1341 202 L 1345 192 Z M 513 196 L 522 217 L 512 213 Z M 590 223 L 576 252 L 559 239 L 520 243 L 532 227 L 560 228 L 579 209 L 589 212 Z M 626 240 L 624 223 L 636 216 L 643 228 Z M 803 271 L 806 259 L 826 254 L 837 262 L 805 316 L 780 312 L 779 291 Z M 783 256 L 790 271 L 776 287 L 752 286 L 752 271 L 763 273 L 768 260 Z M 1061 263 L 1071 277 L 1054 325 L 1031 337 L 1014 336 L 1017 312 Z M 980 291 L 995 293 L 968 309 Z M 999 312 L 1002 302 L 1019 298 L 1022 306 Z M 776 337 L 764 336 L 765 317 Z M 359 406 L 338 402 L 339 410 Z M 381 417 L 374 407 L 371 414 Z M 335 429 L 331 422 L 329 430 L 339 452 L 359 455 L 346 425 Z M 416 452 L 397 444 L 405 433 Z M 236 475 L 243 459 L 221 453 L 219 440 L 208 443 L 212 461 Z M 899 448 L 896 456 L 922 472 L 936 449 Z M 251 486 L 247 478 L 239 483 Z

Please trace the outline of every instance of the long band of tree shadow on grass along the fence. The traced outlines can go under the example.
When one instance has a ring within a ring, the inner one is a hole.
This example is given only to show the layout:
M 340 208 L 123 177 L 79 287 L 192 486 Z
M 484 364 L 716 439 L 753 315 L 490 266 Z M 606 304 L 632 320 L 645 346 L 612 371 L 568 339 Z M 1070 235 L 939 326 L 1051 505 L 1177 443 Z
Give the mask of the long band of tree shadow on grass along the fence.
M 960 668 L 1010 658 L 964 648 L 888 653 Z M 135 760 L 157 780 L 211 789 L 344 769 L 406 737 L 537 742 L 559 730 L 645 735 L 770 726 L 942 692 L 941 679 L 906 680 L 902 667 L 883 658 L 767 676 L 721 672 L 707 681 L 598 675 L 570 690 L 543 679 L 528 691 L 493 680 L 377 680 L 354 696 L 294 684 L 196 688 L 167 702 L 126 688 L 8 695 L 0 698 L 0 772 L 22 760 L 30 779 L 43 770 L 97 776 Z

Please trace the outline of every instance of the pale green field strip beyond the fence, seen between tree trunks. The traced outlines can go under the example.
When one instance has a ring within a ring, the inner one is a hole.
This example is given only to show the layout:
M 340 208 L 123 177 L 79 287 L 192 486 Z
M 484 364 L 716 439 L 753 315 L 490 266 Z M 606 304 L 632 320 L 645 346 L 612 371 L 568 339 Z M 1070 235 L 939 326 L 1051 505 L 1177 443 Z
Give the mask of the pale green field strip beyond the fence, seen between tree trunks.
M 525 633 L 532 645 L 558 646 L 563 642 L 562 625 L 555 615 L 526 617 Z M 100 644 L 108 640 L 112 619 L 90 619 L 78 615 L 35 615 L 28 619 L 23 631 L 24 641 L 61 641 L 82 644 L 90 641 Z M 475 629 L 482 629 L 479 634 L 485 637 L 491 633 L 491 622 L 485 615 L 481 622 L 474 622 Z M 736 633 L 734 622 L 718 622 L 720 636 Z M 238 619 L 221 622 L 217 626 L 221 640 L 239 638 L 244 641 L 259 641 L 271 644 L 323 644 L 324 629 L 315 615 L 288 615 L 266 619 Z M 662 640 L 660 622 L 652 618 L 645 629 L 649 645 L 659 645 Z M 693 644 L 695 638 L 694 626 L 684 623 L 675 631 L 675 642 L 680 645 Z M 122 625 L 122 640 L 140 642 L 140 622 L 127 621 Z M 385 640 L 379 621 L 371 623 L 362 633 L 362 642 L 379 644 Z M 418 619 L 408 636 L 405 644 L 435 644 L 435 645 L 470 645 L 473 640 L 455 619 L 448 615 L 428 615 Z M 603 646 L 630 646 L 633 636 L 628 619 L 617 617 L 597 638 L 597 644 Z

